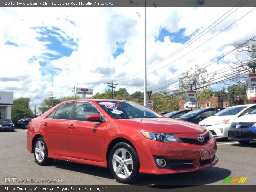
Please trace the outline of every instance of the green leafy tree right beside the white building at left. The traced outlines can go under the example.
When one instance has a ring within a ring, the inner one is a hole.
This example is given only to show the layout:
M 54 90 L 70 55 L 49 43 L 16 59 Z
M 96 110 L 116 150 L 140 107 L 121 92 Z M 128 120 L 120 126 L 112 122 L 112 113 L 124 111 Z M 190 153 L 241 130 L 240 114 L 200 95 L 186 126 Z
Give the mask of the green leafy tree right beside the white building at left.
M 20 97 L 13 100 L 11 119 L 16 121 L 25 118 L 32 118 L 33 112 L 29 108 L 29 103 L 30 98 L 28 97 Z

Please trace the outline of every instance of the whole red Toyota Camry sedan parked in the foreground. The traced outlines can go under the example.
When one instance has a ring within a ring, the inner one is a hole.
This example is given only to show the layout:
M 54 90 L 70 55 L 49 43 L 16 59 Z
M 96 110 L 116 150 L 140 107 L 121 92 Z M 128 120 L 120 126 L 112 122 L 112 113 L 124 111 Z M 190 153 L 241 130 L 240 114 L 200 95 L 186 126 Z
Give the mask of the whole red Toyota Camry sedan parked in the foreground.
M 216 141 L 202 126 L 124 100 L 56 105 L 30 122 L 27 149 L 38 165 L 60 159 L 109 167 L 122 183 L 139 173 L 191 172 L 218 162 Z

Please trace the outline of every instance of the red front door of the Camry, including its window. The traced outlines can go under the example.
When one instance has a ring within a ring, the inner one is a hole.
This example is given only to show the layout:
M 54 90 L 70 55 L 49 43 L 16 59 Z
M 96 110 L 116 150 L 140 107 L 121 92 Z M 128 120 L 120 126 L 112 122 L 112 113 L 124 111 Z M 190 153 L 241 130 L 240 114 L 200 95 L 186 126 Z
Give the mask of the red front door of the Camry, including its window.
M 107 122 L 87 121 L 90 114 L 100 112 L 90 102 L 77 103 L 73 119 L 68 124 L 68 153 L 70 157 L 103 162 Z

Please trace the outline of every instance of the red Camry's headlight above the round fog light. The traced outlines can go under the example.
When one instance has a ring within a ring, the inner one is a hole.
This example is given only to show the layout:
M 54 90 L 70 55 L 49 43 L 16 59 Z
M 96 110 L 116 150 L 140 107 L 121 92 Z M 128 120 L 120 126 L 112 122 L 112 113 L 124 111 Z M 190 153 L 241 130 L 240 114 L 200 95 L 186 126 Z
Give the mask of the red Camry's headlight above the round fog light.
M 170 143 L 170 142 L 182 142 L 178 137 L 169 133 L 154 133 L 154 132 L 140 132 L 144 137 L 147 139 L 160 141 L 163 143 Z

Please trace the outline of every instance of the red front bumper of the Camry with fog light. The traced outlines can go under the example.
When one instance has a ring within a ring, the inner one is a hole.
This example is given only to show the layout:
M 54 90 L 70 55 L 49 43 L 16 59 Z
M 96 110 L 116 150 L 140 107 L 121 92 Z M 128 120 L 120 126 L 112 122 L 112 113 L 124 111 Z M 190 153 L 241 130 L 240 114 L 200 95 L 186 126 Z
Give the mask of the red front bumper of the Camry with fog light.
M 137 143 L 137 146 L 140 146 L 137 150 L 140 160 L 140 173 L 173 174 L 192 172 L 213 166 L 218 162 L 215 156 L 217 145 L 214 138 L 211 138 L 205 145 L 178 142 L 167 144 L 145 139 Z M 209 149 L 211 151 L 211 158 L 201 160 L 201 149 Z M 165 159 L 168 168 L 159 168 L 154 160 L 156 157 Z

